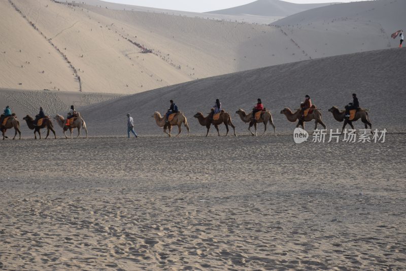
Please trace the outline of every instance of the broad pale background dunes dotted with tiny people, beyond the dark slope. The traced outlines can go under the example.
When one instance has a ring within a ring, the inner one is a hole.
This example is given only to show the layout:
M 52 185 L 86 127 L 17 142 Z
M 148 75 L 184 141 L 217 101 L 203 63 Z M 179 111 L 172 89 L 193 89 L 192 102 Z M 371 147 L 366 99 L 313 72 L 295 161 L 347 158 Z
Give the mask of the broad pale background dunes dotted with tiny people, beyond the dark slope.
M 382 25 L 352 18 L 329 23 L 330 28 L 324 28 L 324 22 L 306 28 L 202 19 L 207 15 L 114 10 L 107 3 L 73 7 L 46 0 L 3 1 L 1 11 L 7 11 L 3 18 L 7 16 L 10 23 L 4 24 L 7 27 L 2 31 L 10 38 L 2 40 L 5 49 L 0 51 L 6 53 L 1 56 L 0 69 L 10 76 L 4 76 L 0 86 L 78 91 L 80 77 L 83 92 L 134 94 L 198 78 L 384 49 L 389 43 L 396 44 L 389 41 L 388 33 L 401 20 L 387 9 L 402 10 L 403 3 L 380 1 L 382 7 L 371 12 L 372 17 L 365 17 L 371 21 L 379 17 Z M 368 2 L 362 7 L 372 9 L 374 5 Z M 333 14 L 335 9 L 352 8 L 340 7 L 323 9 L 331 9 Z M 44 46 L 32 46 L 31 52 L 27 42 L 20 46 L 20 54 L 19 35 Z M 46 58 L 47 54 L 52 57 Z M 45 58 L 40 63 L 37 56 L 41 55 Z M 25 62 L 31 66 L 27 68 Z

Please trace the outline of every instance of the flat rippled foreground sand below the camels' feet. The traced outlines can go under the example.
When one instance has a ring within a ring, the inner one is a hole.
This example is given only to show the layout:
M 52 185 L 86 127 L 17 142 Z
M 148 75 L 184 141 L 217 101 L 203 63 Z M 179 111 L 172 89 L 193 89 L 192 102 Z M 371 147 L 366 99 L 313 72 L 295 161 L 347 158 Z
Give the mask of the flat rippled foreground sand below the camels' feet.
M 0 267 L 406 268 L 406 142 L 5 140 Z

